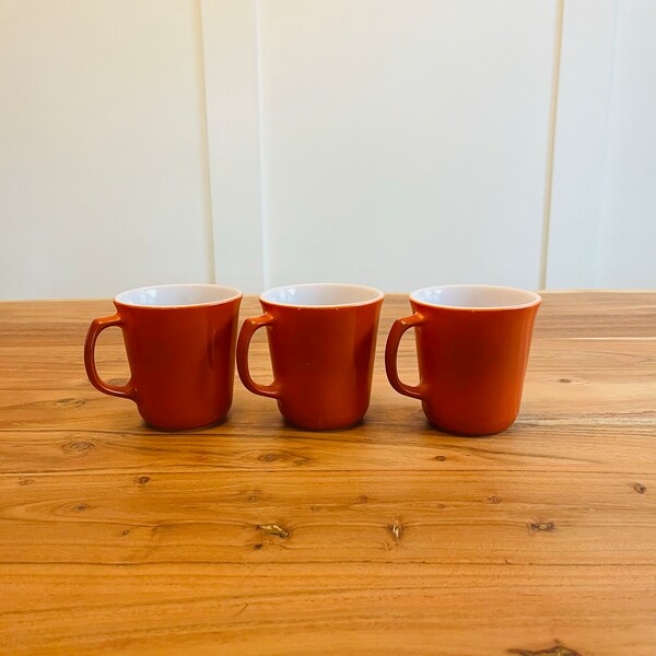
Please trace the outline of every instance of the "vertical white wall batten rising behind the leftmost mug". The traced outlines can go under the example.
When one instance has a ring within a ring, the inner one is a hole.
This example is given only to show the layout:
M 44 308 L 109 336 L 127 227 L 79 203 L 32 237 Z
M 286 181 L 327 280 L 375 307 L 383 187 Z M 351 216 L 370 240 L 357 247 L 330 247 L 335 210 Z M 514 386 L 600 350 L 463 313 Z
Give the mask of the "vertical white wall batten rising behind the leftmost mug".
M 265 286 L 257 10 L 253 0 L 202 0 L 216 280 Z

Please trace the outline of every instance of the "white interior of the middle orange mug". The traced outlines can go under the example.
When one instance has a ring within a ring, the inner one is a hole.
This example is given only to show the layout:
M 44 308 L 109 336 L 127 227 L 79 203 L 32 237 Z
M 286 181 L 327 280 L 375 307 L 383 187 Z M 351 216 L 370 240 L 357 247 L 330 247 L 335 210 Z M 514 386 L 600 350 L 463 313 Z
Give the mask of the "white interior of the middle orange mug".
M 384 296 L 380 290 L 361 284 L 318 282 L 274 288 L 263 292 L 260 298 L 266 303 L 293 307 L 340 307 L 375 303 Z

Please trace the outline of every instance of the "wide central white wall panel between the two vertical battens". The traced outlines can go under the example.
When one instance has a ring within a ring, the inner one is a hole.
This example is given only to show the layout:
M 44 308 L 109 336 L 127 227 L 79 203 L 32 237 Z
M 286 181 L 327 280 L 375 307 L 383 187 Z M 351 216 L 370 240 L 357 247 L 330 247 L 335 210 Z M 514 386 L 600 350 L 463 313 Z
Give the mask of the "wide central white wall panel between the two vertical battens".
M 267 285 L 540 278 L 555 2 L 260 0 Z

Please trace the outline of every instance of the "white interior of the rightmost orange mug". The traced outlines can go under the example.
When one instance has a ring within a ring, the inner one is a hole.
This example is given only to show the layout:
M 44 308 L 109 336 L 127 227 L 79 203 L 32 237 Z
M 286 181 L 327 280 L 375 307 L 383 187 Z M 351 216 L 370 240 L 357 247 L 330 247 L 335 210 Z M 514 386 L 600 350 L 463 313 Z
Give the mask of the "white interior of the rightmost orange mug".
M 540 303 L 535 292 L 488 284 L 452 284 L 417 290 L 410 298 L 434 307 L 462 309 L 516 309 Z

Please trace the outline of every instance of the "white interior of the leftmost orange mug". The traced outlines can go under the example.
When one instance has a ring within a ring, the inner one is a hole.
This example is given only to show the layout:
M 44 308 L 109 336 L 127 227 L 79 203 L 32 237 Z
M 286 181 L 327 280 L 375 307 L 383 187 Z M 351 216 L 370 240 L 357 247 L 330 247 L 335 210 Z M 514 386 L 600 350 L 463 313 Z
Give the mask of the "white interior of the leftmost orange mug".
M 214 305 L 239 298 L 242 292 L 221 284 L 161 284 L 121 292 L 117 303 L 137 307 L 189 307 Z

